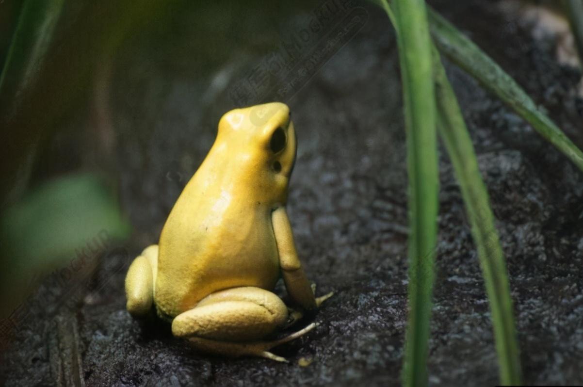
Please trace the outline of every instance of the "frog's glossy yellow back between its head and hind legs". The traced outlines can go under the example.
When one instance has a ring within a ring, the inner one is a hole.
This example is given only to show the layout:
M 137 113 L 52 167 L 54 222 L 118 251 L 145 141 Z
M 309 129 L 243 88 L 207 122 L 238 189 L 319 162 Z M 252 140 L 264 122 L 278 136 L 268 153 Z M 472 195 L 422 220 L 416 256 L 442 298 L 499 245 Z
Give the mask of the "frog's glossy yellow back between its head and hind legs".
M 204 163 L 175 203 L 159 245 L 154 297 L 168 317 L 217 290 L 271 290 L 279 277 L 271 207 L 240 195 L 236 181 Z

